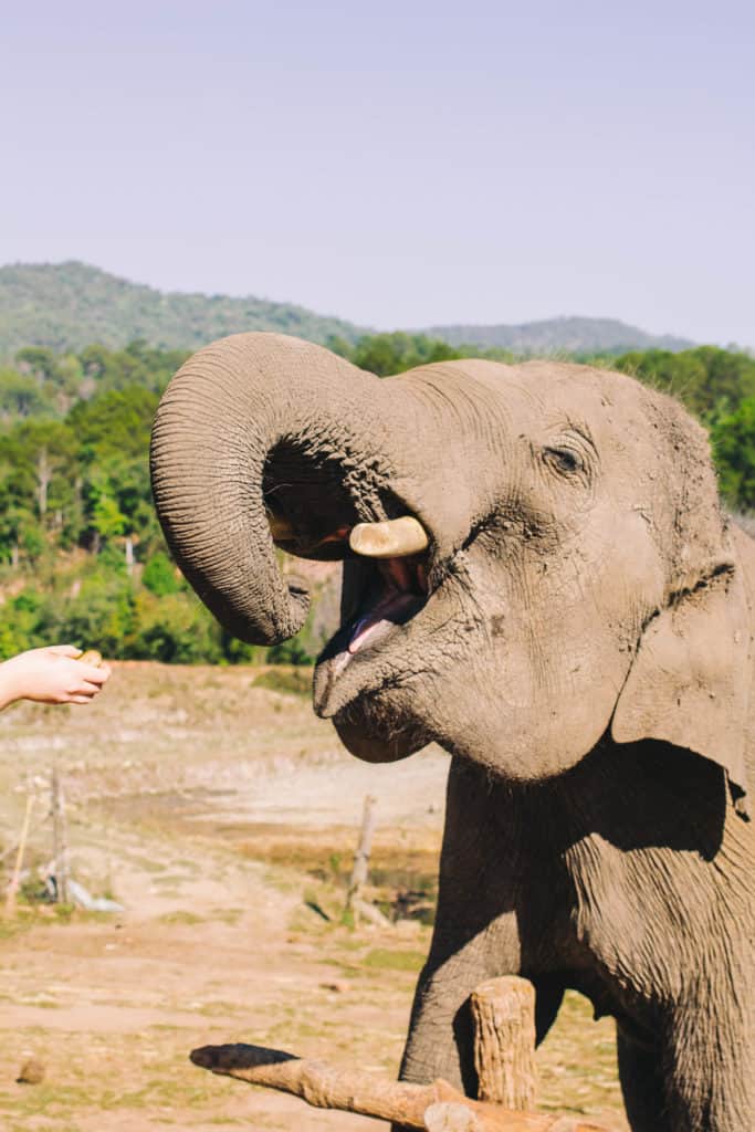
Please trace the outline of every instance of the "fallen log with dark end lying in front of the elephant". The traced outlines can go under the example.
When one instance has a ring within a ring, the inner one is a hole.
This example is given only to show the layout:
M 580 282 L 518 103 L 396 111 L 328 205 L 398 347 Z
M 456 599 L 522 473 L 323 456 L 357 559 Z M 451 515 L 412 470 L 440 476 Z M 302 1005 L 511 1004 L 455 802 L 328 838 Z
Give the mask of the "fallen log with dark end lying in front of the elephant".
M 422 1132 L 604 1132 L 569 1116 L 472 1100 L 446 1081 L 392 1081 L 265 1046 L 203 1046 L 192 1050 L 191 1061 L 213 1073 L 290 1092 L 317 1108 L 359 1113 Z

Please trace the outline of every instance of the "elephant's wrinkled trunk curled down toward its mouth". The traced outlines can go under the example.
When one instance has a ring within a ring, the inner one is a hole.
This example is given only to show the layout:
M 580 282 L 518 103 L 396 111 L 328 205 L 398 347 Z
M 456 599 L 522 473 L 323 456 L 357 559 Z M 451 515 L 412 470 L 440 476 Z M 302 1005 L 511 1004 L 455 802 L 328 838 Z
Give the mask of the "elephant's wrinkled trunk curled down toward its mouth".
M 171 381 L 152 437 L 157 515 L 234 636 L 275 644 L 307 617 L 309 595 L 281 575 L 273 532 L 304 557 L 335 558 L 357 522 L 386 517 L 379 400 L 372 375 L 277 334 L 215 342 Z

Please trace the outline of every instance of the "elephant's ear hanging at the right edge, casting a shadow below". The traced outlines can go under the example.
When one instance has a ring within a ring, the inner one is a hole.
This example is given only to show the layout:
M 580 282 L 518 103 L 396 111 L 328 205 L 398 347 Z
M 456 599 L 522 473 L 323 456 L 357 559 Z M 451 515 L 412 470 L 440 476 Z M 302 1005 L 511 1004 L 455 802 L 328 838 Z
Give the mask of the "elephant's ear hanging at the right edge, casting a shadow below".
M 728 560 L 677 591 L 645 627 L 614 712 L 614 739 L 661 739 L 718 763 L 737 813 L 749 820 L 749 668 L 745 583 Z

